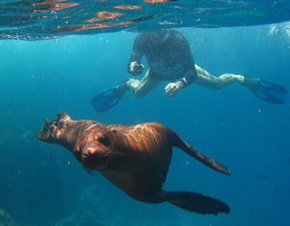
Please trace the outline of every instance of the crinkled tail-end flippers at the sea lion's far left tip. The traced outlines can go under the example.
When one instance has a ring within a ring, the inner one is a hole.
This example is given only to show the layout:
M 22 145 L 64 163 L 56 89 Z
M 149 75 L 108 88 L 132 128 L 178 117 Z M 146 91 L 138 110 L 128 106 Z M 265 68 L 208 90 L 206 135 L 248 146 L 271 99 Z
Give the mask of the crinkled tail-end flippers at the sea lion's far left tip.
M 65 112 L 59 111 L 57 118 L 47 121 L 44 120 L 43 126 L 36 137 L 44 142 L 59 144 L 63 137 L 66 123 L 72 118 Z

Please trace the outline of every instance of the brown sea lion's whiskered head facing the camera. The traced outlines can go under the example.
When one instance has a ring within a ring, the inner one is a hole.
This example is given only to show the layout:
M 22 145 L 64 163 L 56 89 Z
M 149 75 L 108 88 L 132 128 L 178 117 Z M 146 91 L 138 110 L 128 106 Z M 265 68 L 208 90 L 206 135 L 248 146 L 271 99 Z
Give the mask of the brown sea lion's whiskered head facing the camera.
M 121 157 L 115 150 L 112 134 L 104 127 L 93 127 L 79 138 L 73 155 L 89 169 L 108 170 L 114 159 Z

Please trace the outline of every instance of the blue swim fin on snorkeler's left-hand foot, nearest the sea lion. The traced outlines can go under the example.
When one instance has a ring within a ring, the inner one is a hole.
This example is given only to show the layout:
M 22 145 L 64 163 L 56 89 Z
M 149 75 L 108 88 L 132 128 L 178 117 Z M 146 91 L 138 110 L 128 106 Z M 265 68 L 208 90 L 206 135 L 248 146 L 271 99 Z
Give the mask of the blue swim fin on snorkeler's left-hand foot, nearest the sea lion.
M 120 86 L 105 89 L 91 100 L 92 107 L 96 112 L 102 112 L 114 107 L 125 94 L 126 89 Z

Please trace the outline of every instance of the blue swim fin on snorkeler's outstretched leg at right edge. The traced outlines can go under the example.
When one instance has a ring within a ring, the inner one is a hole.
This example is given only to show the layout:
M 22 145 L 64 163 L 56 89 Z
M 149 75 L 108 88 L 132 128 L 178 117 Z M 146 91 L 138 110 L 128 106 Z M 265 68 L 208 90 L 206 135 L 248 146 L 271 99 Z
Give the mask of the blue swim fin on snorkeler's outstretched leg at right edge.
M 283 104 L 285 102 L 288 90 L 285 87 L 277 85 L 271 81 L 257 80 L 259 86 L 253 92 L 259 99 L 272 104 Z

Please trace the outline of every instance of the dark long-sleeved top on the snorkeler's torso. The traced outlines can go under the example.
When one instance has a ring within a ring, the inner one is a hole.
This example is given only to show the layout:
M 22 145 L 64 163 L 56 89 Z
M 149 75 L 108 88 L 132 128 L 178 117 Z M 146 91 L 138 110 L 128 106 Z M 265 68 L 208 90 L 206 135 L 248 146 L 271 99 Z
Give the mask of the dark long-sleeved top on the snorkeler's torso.
M 138 35 L 130 62 L 140 63 L 143 55 L 150 65 L 152 78 L 169 81 L 182 79 L 186 86 L 196 78 L 189 41 L 178 31 L 162 29 Z

